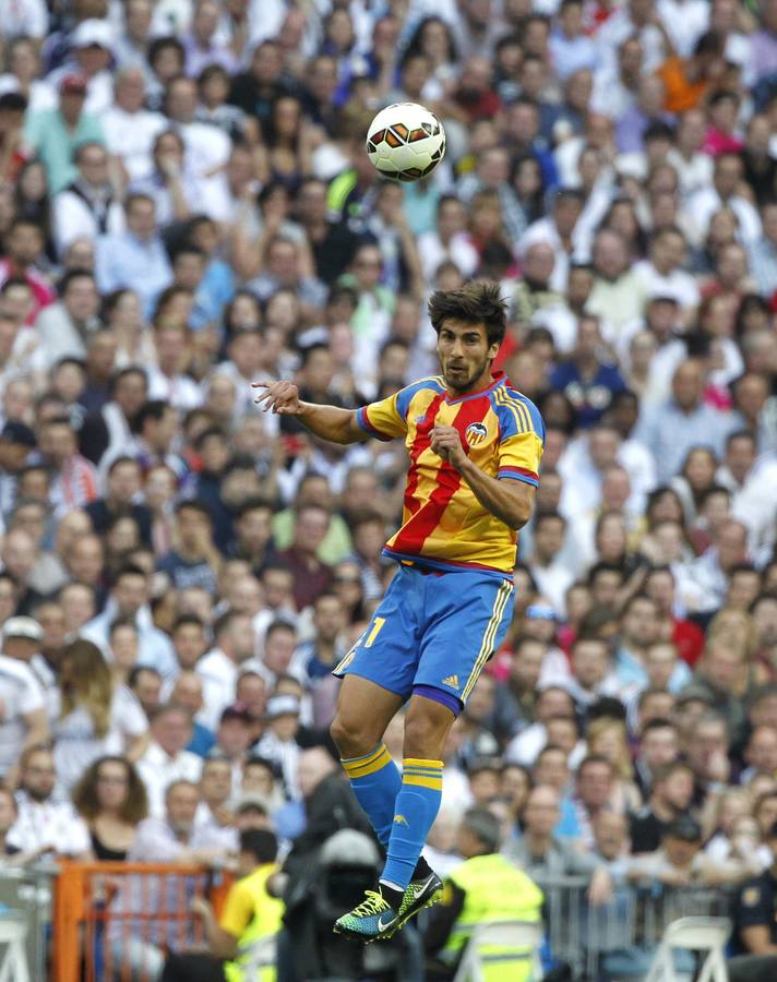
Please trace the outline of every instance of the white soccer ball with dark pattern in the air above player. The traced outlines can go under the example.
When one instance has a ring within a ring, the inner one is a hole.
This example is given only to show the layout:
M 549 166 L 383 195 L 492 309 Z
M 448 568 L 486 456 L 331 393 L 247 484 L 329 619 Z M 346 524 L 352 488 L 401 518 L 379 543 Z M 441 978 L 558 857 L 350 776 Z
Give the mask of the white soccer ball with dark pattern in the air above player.
M 367 155 L 383 177 L 417 181 L 445 155 L 442 123 L 418 103 L 394 103 L 370 123 Z

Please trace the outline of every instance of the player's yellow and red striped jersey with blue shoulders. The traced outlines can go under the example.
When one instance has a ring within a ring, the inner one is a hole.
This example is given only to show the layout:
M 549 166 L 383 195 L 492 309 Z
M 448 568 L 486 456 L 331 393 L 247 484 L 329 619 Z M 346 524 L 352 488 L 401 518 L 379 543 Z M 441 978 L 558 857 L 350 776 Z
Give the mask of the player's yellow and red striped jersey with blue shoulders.
M 492 515 L 451 464 L 431 450 L 431 429 L 455 427 L 470 460 L 490 477 L 537 486 L 545 423 L 504 372 L 482 392 L 451 398 L 442 378 L 421 379 L 357 412 L 379 440 L 403 436 L 410 455 L 402 527 L 383 550 L 438 570 L 480 568 L 511 576 L 517 534 Z

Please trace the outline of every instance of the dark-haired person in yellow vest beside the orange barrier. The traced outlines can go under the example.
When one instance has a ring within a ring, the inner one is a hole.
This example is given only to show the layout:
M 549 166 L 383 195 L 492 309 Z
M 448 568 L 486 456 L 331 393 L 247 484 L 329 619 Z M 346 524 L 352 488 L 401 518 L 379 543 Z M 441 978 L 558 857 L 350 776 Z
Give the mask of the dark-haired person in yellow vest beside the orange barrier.
M 277 872 L 278 842 L 266 829 L 240 834 L 239 879 L 227 894 L 222 917 L 202 897 L 191 911 L 203 920 L 207 953 L 168 956 L 160 982 L 276 982 L 273 963 L 256 967 L 259 943 L 277 934 L 284 905 L 267 893 Z

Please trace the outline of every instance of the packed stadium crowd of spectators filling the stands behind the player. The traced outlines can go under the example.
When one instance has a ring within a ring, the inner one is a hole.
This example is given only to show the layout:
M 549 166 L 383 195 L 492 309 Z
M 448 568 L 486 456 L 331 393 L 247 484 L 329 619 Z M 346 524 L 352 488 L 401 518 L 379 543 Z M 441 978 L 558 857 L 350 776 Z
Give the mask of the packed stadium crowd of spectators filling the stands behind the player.
M 434 372 L 430 291 L 487 277 L 548 433 L 430 860 L 478 804 L 594 897 L 769 866 L 777 2 L 2 0 L 0 29 L 5 852 L 323 841 L 404 447 L 250 383 L 388 395 Z M 363 151 L 402 100 L 447 134 L 411 185 Z

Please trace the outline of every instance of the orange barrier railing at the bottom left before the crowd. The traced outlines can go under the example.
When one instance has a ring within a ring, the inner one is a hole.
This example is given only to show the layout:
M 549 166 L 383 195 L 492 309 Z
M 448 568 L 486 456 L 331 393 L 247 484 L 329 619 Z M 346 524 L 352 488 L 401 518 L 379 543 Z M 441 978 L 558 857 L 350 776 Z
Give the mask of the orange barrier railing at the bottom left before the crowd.
M 55 891 L 56 982 L 146 982 L 168 950 L 202 942 L 195 896 L 220 907 L 228 883 L 199 866 L 61 864 Z

